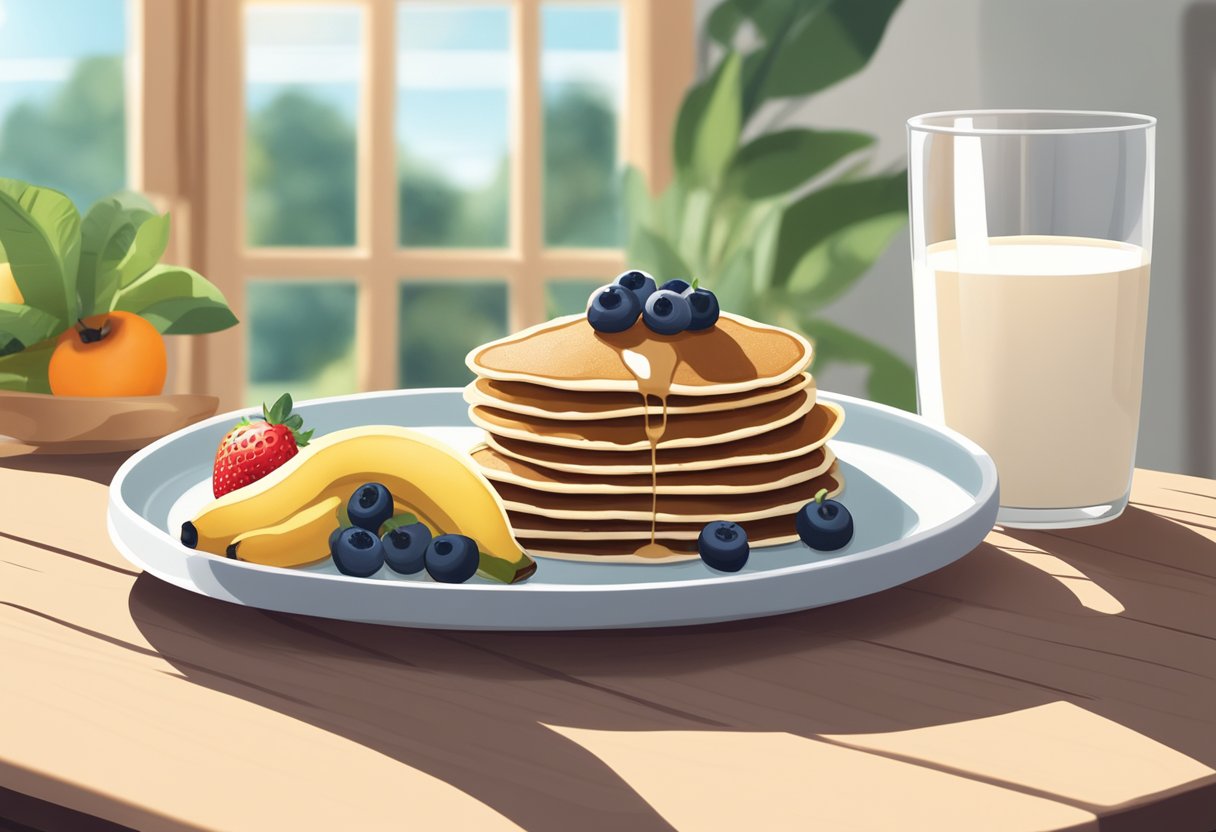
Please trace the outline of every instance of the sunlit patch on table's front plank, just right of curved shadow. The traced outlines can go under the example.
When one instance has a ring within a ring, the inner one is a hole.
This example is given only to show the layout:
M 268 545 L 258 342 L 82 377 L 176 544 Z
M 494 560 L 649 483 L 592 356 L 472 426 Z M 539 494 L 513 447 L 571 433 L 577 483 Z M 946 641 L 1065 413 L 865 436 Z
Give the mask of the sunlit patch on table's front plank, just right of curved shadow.
M 1097 830 L 1075 806 L 792 733 L 546 727 L 677 830 Z

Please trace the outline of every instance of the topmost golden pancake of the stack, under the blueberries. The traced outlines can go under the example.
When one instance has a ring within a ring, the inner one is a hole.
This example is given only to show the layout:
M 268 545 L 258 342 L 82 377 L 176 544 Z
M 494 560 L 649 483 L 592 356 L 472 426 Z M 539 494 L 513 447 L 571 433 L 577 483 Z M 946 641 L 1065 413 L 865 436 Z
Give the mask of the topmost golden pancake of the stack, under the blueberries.
M 664 343 L 677 361 L 672 395 L 725 395 L 779 384 L 811 362 L 806 338 L 789 330 L 722 313 L 700 332 L 660 336 L 641 320 L 624 332 L 592 330 L 585 315 L 568 315 L 475 348 L 465 359 L 483 378 L 584 392 L 637 393 L 621 354 Z

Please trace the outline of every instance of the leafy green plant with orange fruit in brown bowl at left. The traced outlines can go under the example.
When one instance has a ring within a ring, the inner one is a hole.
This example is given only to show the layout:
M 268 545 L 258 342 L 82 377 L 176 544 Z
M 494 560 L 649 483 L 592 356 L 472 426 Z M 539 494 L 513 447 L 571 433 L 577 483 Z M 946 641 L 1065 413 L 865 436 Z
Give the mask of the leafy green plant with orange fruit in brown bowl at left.
M 237 324 L 210 281 L 161 263 L 168 242 L 169 214 L 137 193 L 81 218 L 58 191 L 0 179 L 0 433 L 130 445 L 214 412 L 212 397 L 161 395 L 163 336 Z

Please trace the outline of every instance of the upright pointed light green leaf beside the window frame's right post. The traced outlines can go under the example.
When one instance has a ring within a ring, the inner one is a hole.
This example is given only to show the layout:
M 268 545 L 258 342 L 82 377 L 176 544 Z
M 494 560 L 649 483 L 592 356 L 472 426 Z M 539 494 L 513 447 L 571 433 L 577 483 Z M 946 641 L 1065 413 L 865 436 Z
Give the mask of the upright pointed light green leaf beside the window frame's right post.
M 738 52 L 728 52 L 714 74 L 694 86 L 680 107 L 676 169 L 694 182 L 716 185 L 739 145 L 742 63 Z

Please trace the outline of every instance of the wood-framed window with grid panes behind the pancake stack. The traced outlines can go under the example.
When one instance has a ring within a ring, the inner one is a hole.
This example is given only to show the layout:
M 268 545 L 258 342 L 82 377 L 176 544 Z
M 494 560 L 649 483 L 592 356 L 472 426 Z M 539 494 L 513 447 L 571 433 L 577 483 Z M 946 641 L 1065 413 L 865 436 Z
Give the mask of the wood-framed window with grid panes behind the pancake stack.
M 184 108 L 142 186 L 242 320 L 175 366 L 232 406 L 462 384 L 478 343 L 580 310 L 693 73 L 692 0 L 136 5 L 176 64 L 145 116 Z

